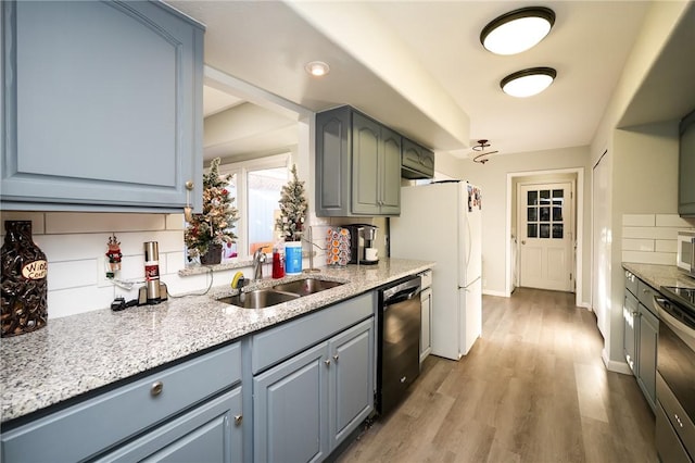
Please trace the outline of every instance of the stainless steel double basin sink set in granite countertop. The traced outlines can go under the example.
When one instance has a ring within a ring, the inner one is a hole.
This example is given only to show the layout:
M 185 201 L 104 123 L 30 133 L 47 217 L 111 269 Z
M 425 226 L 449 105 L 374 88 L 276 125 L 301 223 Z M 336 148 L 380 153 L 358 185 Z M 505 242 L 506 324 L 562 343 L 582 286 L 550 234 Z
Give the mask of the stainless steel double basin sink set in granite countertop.
M 239 295 L 228 296 L 217 300 L 244 309 L 265 309 L 341 285 L 344 285 L 344 283 L 318 278 L 303 278 L 281 283 L 270 288 L 240 292 Z

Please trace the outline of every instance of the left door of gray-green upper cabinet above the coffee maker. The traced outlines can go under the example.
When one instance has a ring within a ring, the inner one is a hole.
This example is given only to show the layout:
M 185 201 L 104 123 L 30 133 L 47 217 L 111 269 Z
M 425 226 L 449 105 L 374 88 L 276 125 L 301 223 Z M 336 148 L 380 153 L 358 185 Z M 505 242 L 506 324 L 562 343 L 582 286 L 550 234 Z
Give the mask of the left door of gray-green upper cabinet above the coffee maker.
M 352 127 L 352 212 L 378 215 L 380 192 L 379 146 L 381 125 L 353 113 Z

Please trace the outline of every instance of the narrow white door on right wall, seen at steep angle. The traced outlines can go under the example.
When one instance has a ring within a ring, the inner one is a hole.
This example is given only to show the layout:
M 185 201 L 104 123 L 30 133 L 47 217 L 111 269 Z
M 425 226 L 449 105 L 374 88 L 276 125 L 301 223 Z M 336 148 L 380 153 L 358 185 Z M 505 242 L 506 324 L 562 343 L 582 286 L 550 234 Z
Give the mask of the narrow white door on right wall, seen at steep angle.
M 610 279 L 610 191 L 608 157 L 604 154 L 594 166 L 592 176 L 592 309 L 598 330 L 606 337 L 606 281 Z

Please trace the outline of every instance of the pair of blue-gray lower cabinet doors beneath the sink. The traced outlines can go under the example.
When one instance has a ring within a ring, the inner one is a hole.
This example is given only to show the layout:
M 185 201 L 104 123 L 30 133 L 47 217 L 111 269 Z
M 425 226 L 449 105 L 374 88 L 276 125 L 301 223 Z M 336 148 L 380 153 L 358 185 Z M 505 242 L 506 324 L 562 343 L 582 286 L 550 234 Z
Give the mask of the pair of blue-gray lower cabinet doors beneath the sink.
M 374 409 L 374 317 L 254 377 L 254 461 L 321 461 Z

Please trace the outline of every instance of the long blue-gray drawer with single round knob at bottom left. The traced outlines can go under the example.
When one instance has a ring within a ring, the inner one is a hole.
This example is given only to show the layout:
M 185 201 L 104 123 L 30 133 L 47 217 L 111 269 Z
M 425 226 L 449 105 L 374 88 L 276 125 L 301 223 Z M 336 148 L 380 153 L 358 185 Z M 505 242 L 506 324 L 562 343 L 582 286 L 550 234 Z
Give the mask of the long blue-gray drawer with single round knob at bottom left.
M 93 456 L 240 379 L 237 343 L 3 433 L 2 460 Z

